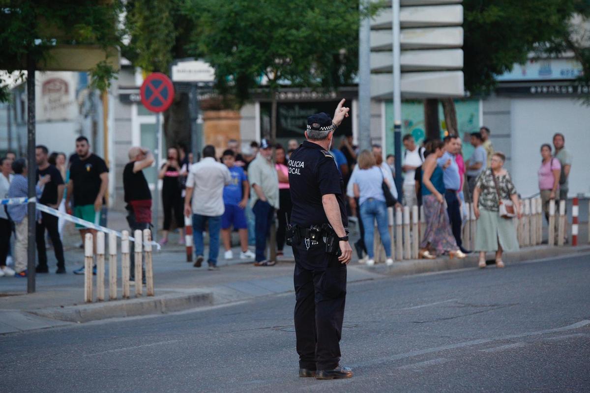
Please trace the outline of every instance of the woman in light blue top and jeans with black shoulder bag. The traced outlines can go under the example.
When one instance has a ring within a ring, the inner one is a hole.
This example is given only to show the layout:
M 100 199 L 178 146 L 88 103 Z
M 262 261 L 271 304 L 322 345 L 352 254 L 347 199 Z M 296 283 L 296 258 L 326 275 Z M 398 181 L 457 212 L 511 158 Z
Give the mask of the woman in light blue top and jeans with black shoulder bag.
M 383 171 L 377 166 L 375 156 L 368 151 L 363 150 L 358 156 L 358 173 L 354 177 L 353 189 L 355 197 L 359 199 L 360 219 L 365 227 L 365 246 L 369 259 L 366 261 L 368 266 L 375 265 L 375 250 L 373 249 L 373 240 L 375 233 L 375 220 L 377 229 L 381 235 L 381 242 L 385 247 L 385 256 L 387 265 L 393 265 L 394 260 L 391 257 L 391 238 L 388 230 L 387 207 L 398 206 L 401 204 L 392 196 L 389 191 L 390 184 L 383 176 Z

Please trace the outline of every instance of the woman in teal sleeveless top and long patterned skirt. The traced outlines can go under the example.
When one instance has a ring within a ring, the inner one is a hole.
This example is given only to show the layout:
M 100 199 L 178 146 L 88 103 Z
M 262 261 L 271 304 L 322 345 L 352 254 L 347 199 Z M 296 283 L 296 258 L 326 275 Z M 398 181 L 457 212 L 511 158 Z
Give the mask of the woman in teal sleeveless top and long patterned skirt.
M 437 159 L 444 154 L 443 147 L 444 143 L 441 140 L 428 142 L 426 145 L 428 155 L 422 164 L 422 205 L 426 229 L 424 239 L 420 243 L 421 259 L 434 259 L 437 255 L 444 253 L 451 258 L 466 257 L 457 246 L 448 219 L 442 169 L 437 164 Z

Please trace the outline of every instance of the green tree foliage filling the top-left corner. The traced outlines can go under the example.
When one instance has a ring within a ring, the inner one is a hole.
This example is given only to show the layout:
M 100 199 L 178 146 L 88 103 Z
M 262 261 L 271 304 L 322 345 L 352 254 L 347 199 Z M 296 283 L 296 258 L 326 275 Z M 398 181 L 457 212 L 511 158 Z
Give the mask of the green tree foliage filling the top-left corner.
M 57 44 L 120 45 L 117 21 L 122 0 L 0 0 L 0 69 L 25 68 L 27 57 L 47 60 L 47 50 Z M 92 74 L 96 86 L 108 87 L 114 70 L 106 61 Z M 0 85 L 5 83 L 0 79 Z M 6 90 L 0 100 L 6 100 Z

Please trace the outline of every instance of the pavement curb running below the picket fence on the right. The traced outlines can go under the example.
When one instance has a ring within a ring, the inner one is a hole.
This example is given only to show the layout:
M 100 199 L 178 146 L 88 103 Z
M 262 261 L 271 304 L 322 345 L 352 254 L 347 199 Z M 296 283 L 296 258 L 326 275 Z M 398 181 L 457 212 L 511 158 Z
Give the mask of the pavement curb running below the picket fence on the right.
M 590 252 L 590 246 L 576 247 L 549 247 L 537 246 L 530 247 L 526 250 L 521 250 L 516 253 L 507 253 L 504 257 L 504 263 L 511 265 L 512 263 L 525 262 L 535 259 L 543 259 L 558 256 L 572 256 L 576 254 L 583 254 Z M 395 262 L 392 266 L 386 266 L 383 263 L 369 267 L 366 265 L 355 265 L 366 269 L 369 272 L 382 273 L 388 276 L 409 276 L 422 273 L 442 272 L 445 270 L 467 269 L 469 267 L 477 267 L 478 256 L 470 255 L 465 259 L 414 259 L 403 262 Z

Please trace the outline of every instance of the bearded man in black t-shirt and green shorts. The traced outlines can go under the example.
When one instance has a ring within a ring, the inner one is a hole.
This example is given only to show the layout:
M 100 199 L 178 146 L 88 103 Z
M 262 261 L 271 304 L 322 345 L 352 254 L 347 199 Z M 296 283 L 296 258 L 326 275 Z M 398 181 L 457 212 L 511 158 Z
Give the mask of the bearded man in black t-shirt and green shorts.
M 102 158 L 90 153 L 90 144 L 86 137 L 76 139 L 76 154 L 77 157 L 74 156 L 70 163 L 70 181 L 68 181 L 65 206 L 68 214 L 98 225 L 104 193 L 109 186 L 109 169 Z M 73 209 L 70 208 L 72 198 L 74 199 Z M 96 252 L 96 230 L 87 229 L 78 224 L 76 228 L 80 229 L 82 242 L 86 233 L 92 234 Z M 96 274 L 96 266 L 93 270 Z M 84 266 L 74 270 L 74 274 L 84 274 Z

